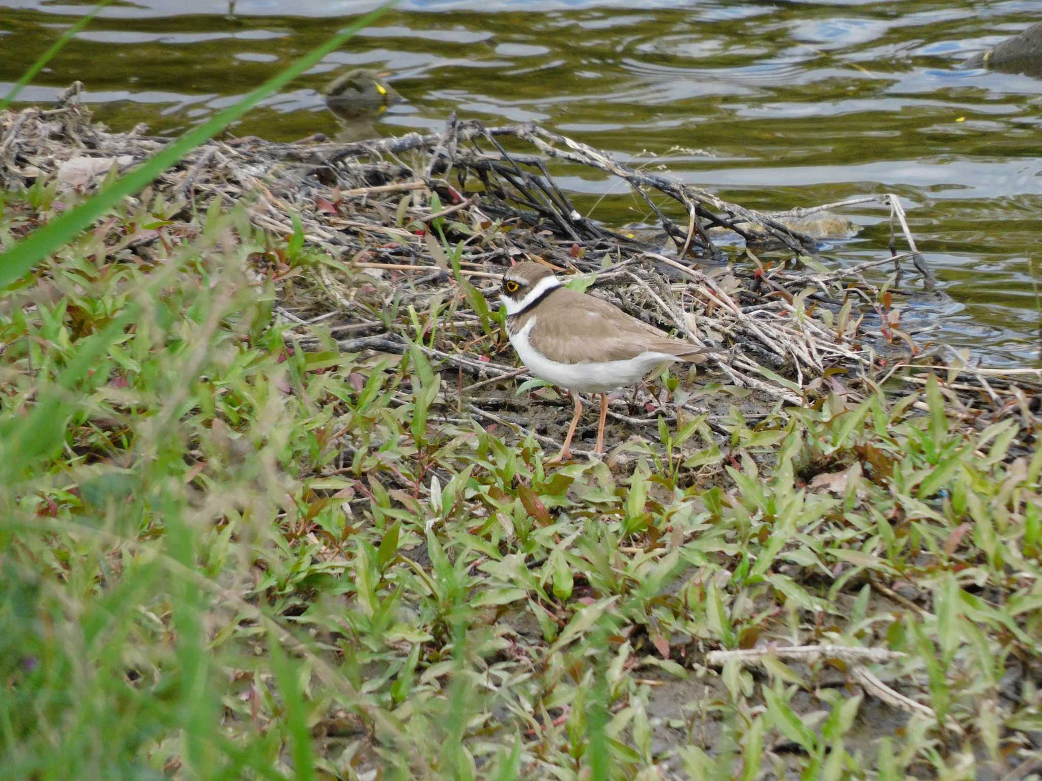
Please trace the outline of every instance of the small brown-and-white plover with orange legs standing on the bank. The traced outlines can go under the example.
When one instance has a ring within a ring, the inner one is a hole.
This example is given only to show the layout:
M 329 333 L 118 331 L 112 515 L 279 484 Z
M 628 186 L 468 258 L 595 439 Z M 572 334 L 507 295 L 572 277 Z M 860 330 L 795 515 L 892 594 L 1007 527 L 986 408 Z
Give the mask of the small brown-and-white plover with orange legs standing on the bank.
M 568 388 L 575 400 L 565 446 L 551 462 L 571 456 L 582 412 L 578 392 L 600 394 L 594 452 L 601 453 L 609 391 L 639 382 L 661 363 L 720 352 L 670 338 L 607 301 L 571 291 L 550 269 L 531 260 L 503 275 L 499 300 L 506 307 L 506 333 L 521 361 L 537 377 Z

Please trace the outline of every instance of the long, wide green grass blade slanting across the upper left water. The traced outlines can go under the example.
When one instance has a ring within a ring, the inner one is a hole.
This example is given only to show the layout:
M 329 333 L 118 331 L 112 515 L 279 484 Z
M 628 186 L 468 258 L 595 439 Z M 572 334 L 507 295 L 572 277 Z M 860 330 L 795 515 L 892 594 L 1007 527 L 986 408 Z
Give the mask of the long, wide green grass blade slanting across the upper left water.
M 266 97 L 286 86 L 301 73 L 319 62 L 324 56 L 342 46 L 344 42 L 358 32 L 358 30 L 375 22 L 395 2 L 396 0 L 393 0 L 386 5 L 381 5 L 376 10 L 367 14 L 357 22 L 347 27 L 343 32 L 333 35 L 321 46 L 313 49 L 277 76 L 268 79 L 235 105 L 224 109 L 208 122 L 184 133 L 184 135 L 165 147 L 139 168 L 130 171 L 102 190 L 91 200 L 69 209 L 43 228 L 30 233 L 3 255 L 0 255 L 0 288 L 6 287 L 31 270 L 42 258 L 71 242 L 81 230 L 93 224 L 95 220 L 104 215 L 120 199 L 143 190 L 163 171 L 176 163 L 195 147 L 208 141 Z

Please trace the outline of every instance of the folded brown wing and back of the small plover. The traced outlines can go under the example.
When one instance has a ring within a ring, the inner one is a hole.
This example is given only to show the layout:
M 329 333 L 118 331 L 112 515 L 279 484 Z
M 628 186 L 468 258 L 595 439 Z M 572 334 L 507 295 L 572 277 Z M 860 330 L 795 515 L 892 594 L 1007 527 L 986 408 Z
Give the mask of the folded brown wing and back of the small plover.
M 705 350 L 672 339 L 603 299 L 560 287 L 547 296 L 553 318 L 536 317 L 528 334 L 532 347 L 562 363 L 627 360 L 653 351 L 694 360 Z

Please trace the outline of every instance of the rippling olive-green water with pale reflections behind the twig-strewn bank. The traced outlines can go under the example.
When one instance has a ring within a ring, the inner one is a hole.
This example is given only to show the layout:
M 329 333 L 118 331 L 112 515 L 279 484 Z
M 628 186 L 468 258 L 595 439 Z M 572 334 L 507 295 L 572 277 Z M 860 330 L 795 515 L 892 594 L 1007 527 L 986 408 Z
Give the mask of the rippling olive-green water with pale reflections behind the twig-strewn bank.
M 175 134 L 376 3 L 134 0 L 106 9 L 24 99 L 73 79 L 97 116 Z M 0 0 L 0 91 L 86 6 Z M 281 95 L 240 133 L 291 140 L 340 126 L 318 93 L 367 66 L 408 99 L 373 133 L 443 127 L 446 116 L 535 120 L 619 159 L 665 162 L 685 181 L 764 209 L 893 192 L 944 295 L 913 296 L 905 324 L 991 364 L 1037 362 L 1042 319 L 1042 80 L 959 68 L 1042 21 L 1042 2 L 403 3 Z M 4 83 L 6 82 L 6 83 Z M 562 170 L 599 219 L 638 223 L 619 182 Z M 602 198 L 602 196 L 605 196 Z M 889 211 L 825 250 L 877 257 Z M 902 280 L 915 291 L 914 275 Z M 921 337 L 924 339 L 925 337 Z

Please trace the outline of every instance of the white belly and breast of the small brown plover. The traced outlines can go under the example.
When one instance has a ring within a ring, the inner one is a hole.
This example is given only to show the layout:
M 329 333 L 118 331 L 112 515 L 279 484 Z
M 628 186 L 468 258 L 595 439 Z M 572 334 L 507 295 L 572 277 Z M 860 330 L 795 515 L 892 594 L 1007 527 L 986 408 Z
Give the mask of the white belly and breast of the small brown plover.
M 656 366 L 677 360 L 668 353 L 642 353 L 626 360 L 584 360 L 578 363 L 559 363 L 550 360 L 528 344 L 528 333 L 536 325 L 536 318 L 524 328 L 511 335 L 511 344 L 531 373 L 554 385 L 580 393 L 606 393 L 632 385 L 647 376 Z

